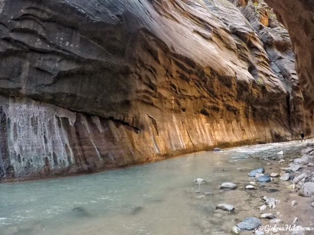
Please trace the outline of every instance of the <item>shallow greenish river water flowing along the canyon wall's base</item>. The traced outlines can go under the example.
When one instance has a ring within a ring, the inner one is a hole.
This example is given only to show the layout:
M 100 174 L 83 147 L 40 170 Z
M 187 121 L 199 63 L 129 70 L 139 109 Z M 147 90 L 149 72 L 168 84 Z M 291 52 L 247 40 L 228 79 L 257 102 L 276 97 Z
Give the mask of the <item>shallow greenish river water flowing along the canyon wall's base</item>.
M 247 173 L 266 162 L 249 154 L 269 158 L 281 150 L 293 154 L 298 146 L 244 146 L 91 175 L 2 184 L 0 234 L 219 234 L 250 211 L 254 192 L 244 189 Z M 199 177 L 207 181 L 201 193 L 193 182 Z M 220 190 L 223 182 L 238 188 Z M 276 184 L 263 187 L 279 190 Z M 236 210 L 217 211 L 218 203 L 234 204 Z

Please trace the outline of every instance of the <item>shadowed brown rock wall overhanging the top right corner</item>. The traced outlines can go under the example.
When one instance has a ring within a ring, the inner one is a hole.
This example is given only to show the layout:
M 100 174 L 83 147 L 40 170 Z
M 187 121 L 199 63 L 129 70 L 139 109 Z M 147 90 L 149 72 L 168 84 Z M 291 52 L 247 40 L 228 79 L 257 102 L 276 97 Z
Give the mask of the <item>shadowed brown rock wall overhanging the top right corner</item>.
M 305 104 L 314 106 L 314 2 L 313 0 L 265 0 L 289 30 Z M 313 111 L 312 111 L 313 112 Z

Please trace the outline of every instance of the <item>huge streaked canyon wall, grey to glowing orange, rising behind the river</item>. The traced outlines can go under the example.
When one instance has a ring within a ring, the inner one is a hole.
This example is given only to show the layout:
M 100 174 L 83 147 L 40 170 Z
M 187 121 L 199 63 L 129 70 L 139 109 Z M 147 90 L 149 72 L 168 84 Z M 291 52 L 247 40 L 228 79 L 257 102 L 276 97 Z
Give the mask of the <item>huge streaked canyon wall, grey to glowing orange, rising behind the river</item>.
M 262 2 L 2 3 L 2 180 L 312 133 L 287 30 Z

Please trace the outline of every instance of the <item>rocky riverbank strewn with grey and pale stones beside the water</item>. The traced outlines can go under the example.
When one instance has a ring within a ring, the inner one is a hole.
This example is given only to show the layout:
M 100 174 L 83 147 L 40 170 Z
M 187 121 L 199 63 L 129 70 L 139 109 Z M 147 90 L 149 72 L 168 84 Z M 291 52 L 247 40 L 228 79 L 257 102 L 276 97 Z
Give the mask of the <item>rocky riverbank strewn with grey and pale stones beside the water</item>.
M 222 200 L 213 217 L 202 222 L 203 232 L 215 235 L 314 234 L 314 141 L 303 145 L 300 141 L 291 143 L 295 143 L 295 151 L 292 147 L 277 153 L 248 153 L 261 167 L 240 168 L 247 171 L 247 177 L 230 179 L 231 182 L 220 186 L 217 193 Z M 232 220 L 235 226 L 227 231 L 220 226 L 223 220 Z

